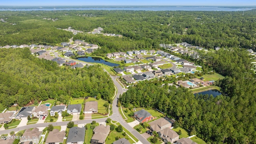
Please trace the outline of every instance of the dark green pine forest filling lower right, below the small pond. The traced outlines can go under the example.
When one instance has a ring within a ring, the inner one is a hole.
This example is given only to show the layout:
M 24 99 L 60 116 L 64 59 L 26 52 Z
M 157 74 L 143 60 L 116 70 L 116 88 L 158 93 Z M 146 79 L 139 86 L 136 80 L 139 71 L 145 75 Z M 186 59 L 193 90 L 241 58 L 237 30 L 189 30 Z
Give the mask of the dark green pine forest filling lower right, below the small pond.
M 158 108 L 208 143 L 255 144 L 256 82 L 245 50 L 221 49 L 205 54 L 205 64 L 220 72 L 216 82 L 224 96 L 194 96 L 186 88 L 162 86 L 165 80 L 140 82 L 120 96 L 125 107 Z M 210 60 L 212 59 L 212 60 Z

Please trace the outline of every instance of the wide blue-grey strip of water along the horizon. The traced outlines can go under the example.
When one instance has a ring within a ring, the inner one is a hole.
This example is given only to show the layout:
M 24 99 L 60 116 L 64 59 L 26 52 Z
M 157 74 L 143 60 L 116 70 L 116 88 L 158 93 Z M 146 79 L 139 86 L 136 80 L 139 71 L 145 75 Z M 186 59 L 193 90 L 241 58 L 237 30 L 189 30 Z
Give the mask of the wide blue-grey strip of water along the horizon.
M 31 8 L 12 8 L 12 7 L 0 7 L 0 11 L 10 10 L 10 11 L 33 11 L 33 10 L 144 10 L 144 11 L 246 11 L 252 10 L 253 8 L 226 8 L 226 7 L 218 7 L 218 6 L 118 6 L 118 7 L 86 7 L 79 8 L 78 6 L 72 8 L 56 6 L 54 7 L 31 7 Z

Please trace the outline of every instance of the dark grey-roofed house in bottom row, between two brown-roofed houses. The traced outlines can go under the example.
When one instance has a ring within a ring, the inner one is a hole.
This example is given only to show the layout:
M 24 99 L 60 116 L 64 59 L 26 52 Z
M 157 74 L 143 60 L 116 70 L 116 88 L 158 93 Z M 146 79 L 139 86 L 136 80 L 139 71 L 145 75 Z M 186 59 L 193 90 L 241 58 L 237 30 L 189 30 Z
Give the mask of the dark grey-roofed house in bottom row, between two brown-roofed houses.
M 67 144 L 84 144 L 85 128 L 72 127 L 69 130 Z

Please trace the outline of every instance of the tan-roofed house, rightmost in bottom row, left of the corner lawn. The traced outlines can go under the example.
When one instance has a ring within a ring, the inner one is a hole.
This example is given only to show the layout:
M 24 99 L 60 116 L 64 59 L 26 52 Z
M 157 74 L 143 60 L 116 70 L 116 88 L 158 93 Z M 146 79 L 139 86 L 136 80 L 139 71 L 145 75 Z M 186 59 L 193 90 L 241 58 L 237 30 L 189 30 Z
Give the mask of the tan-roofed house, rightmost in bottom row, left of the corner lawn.
M 94 135 L 92 136 L 90 143 L 105 144 L 105 140 L 110 133 L 110 126 L 104 126 L 103 124 L 100 124 L 100 126 L 96 126 L 96 128 L 93 129 L 93 132 Z

